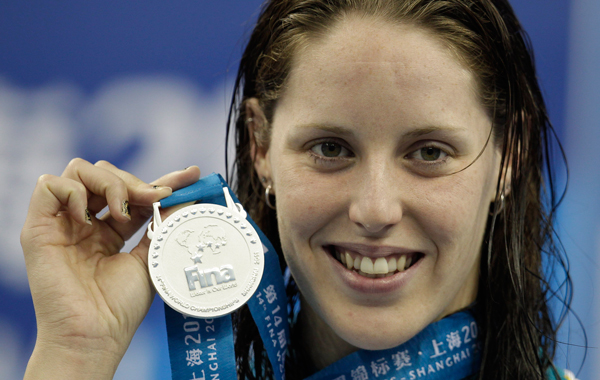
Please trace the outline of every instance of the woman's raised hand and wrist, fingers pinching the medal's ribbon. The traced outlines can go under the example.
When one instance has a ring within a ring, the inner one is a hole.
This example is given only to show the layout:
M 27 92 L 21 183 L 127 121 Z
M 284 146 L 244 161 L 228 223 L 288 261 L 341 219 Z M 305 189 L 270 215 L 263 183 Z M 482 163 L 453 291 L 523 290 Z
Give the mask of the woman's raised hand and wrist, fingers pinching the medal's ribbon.
M 191 167 L 147 184 L 74 159 L 62 176 L 39 178 L 21 233 L 38 326 L 26 378 L 112 378 L 154 297 L 148 238 L 120 250 L 153 202 L 199 176 Z

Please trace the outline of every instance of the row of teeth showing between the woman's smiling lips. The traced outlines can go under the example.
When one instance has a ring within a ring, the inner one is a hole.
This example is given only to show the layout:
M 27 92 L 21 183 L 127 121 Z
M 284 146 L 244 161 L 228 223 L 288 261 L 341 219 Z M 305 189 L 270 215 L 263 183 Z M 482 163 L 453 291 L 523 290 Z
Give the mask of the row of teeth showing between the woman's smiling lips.
M 407 255 L 393 255 L 389 257 L 378 257 L 373 259 L 367 256 L 354 255 L 348 251 L 335 247 L 335 257 L 349 270 L 355 270 L 358 274 L 369 278 L 383 278 L 392 276 L 396 272 L 408 269 L 413 257 Z

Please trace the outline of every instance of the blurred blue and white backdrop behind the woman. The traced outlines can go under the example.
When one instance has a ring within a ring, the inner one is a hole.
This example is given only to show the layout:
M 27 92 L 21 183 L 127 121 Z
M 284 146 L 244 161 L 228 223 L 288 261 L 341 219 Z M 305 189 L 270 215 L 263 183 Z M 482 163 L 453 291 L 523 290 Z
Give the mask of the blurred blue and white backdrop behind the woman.
M 557 226 L 585 325 L 581 379 L 597 378 L 600 274 L 600 2 L 513 0 L 531 36 L 570 188 Z M 0 377 L 22 378 L 35 317 L 19 246 L 37 177 L 70 158 L 108 159 L 144 180 L 200 164 L 223 172 L 226 110 L 260 1 L 0 3 Z M 168 132 L 163 132 L 167 130 Z M 189 136 L 197 136 L 194 140 Z M 559 170 L 564 180 L 564 171 Z M 583 335 L 561 332 L 577 371 Z M 169 376 L 161 305 L 136 334 L 117 379 Z M 568 362 L 567 362 L 568 361 Z

